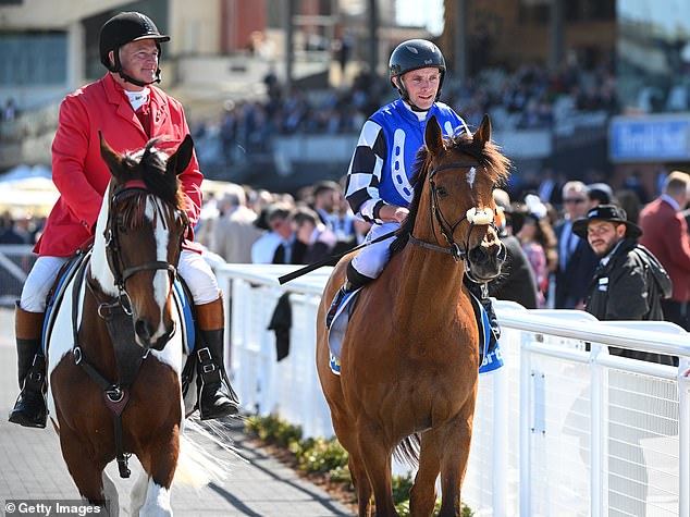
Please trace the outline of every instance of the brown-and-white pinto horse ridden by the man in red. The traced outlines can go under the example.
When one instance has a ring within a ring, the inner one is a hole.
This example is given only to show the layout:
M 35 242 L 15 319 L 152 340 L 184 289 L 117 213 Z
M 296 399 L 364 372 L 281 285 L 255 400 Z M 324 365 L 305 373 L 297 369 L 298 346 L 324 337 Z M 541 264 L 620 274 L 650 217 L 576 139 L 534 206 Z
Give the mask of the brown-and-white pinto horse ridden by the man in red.
M 116 153 L 100 136 L 112 174 L 90 260 L 64 288 L 47 337 L 48 406 L 63 458 L 81 495 L 119 515 L 104 467 L 144 471 L 130 515 L 172 515 L 180 453 L 183 338 L 173 279 L 188 230 L 177 175 L 193 152 L 187 137 L 169 157 L 150 140 Z M 194 390 L 190 390 L 194 391 Z

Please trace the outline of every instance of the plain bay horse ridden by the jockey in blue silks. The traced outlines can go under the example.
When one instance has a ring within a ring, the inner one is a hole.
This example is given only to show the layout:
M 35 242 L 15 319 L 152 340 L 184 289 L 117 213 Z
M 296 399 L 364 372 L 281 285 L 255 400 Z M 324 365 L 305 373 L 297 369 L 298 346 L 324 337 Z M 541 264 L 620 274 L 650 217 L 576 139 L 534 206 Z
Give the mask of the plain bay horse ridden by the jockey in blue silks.
M 493 189 L 509 161 L 491 143 L 485 115 L 473 135 L 444 140 L 435 118 L 424 131 L 415 196 L 381 275 L 359 294 L 342 344 L 341 373 L 329 366 L 325 315 L 345 281 L 334 268 L 317 318 L 317 369 L 333 428 L 349 454 L 359 516 L 396 516 L 392 454 L 418 465 L 410 513 L 431 515 L 441 473 L 440 516 L 460 515 L 479 370 L 478 327 L 463 275 L 500 274 L 505 246 L 493 223 Z

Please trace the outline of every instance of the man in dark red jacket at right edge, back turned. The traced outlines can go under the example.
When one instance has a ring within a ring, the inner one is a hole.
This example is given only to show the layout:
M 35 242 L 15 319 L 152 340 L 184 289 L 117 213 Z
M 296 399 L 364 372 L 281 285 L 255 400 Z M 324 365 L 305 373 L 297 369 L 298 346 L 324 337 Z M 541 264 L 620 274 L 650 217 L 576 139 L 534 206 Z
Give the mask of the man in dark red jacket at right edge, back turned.
M 664 319 L 686 330 L 690 330 L 690 237 L 681 211 L 688 199 L 690 175 L 674 171 L 666 179 L 662 195 L 640 212 L 639 221 L 644 232 L 640 244 L 656 256 L 674 283 L 670 298 L 662 300 Z

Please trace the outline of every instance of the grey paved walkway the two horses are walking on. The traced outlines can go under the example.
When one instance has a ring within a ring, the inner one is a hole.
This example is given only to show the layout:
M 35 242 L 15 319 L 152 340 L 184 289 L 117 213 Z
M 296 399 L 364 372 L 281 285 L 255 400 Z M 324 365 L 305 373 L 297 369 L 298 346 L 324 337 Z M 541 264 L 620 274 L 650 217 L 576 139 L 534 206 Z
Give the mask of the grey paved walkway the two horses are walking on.
M 16 396 L 16 353 L 13 311 L 0 308 L 0 515 L 8 498 L 77 500 L 78 493 L 60 454 L 52 428 L 26 429 L 11 424 L 7 415 Z M 222 481 L 204 488 L 173 483 L 173 510 L 184 517 L 326 517 L 350 515 L 321 489 L 301 480 L 295 472 L 252 447 L 242 433 L 242 424 L 227 430 L 237 451 L 232 455 L 206 441 L 205 448 L 229 466 Z M 120 491 L 121 515 L 128 516 L 128 491 L 135 478 L 122 480 L 116 466 L 108 469 Z

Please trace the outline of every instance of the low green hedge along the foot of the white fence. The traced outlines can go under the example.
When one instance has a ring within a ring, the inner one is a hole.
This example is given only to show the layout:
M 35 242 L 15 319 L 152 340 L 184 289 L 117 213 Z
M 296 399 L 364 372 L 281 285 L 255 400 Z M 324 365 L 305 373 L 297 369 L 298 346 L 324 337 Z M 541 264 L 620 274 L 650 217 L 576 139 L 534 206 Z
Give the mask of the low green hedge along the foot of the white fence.
M 249 416 L 245 423 L 245 432 L 257 436 L 264 443 L 279 445 L 291 451 L 297 458 L 299 469 L 305 472 L 328 477 L 331 482 L 348 483 L 354 490 L 349 469 L 347 468 L 347 451 L 337 439 L 308 438 L 303 440 L 299 426 L 293 426 L 279 417 Z M 409 490 L 412 487 L 411 476 L 393 476 L 393 502 L 401 517 L 409 516 Z M 441 501 L 436 501 L 436 510 Z M 472 517 L 473 512 L 463 503 L 463 517 Z

